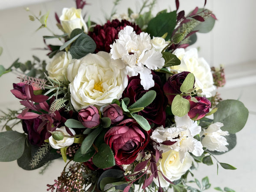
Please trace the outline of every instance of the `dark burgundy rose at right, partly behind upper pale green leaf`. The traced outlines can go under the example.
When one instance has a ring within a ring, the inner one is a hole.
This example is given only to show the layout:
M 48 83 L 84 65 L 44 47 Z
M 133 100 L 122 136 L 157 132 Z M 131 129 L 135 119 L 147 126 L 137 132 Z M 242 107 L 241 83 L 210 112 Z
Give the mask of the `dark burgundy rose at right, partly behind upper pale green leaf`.
M 174 97 L 176 96 L 175 94 L 181 94 L 181 85 L 185 78 L 187 77 L 187 74 L 190 72 L 181 72 L 177 73 L 175 75 L 172 75 L 169 77 L 164 84 L 164 94 L 168 98 L 168 104 L 171 105 Z

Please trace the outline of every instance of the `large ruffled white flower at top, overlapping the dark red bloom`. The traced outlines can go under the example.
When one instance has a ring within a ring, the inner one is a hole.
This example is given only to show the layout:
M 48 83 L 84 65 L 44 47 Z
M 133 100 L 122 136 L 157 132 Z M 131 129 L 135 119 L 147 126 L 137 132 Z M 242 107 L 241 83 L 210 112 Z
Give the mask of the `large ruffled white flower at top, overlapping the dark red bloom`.
M 136 35 L 131 26 L 126 26 L 118 33 L 116 42 L 110 45 L 112 59 L 121 59 L 127 75 L 140 74 L 141 85 L 148 90 L 154 86 L 151 70 L 162 68 L 164 58 L 161 52 L 152 49 L 148 33 Z

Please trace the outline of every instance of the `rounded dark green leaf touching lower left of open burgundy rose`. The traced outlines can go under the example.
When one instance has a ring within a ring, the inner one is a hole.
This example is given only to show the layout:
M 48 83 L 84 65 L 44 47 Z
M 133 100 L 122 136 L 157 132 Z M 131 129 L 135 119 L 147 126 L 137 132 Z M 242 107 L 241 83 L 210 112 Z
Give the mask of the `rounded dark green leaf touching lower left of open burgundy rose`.
M 115 157 L 106 143 L 102 143 L 92 158 L 92 163 L 100 169 L 106 169 L 115 165 Z

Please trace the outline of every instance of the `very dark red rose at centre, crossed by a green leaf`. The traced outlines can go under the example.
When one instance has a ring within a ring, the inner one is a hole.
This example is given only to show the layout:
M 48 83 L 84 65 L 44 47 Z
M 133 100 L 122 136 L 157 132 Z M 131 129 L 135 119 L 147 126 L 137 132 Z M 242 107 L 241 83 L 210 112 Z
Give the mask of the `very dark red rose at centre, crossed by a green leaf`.
M 141 85 L 141 79 L 139 75 L 129 78 L 128 86 L 123 92 L 122 98 L 130 98 L 130 104 L 133 104 L 146 92 L 150 90 L 156 91 L 157 95 L 154 101 L 145 107 L 144 110 L 139 111 L 138 114 L 146 118 L 149 124 L 154 123 L 154 127 L 159 127 L 161 125 L 165 125 L 165 108 L 167 106 L 167 101 L 161 89 L 160 77 L 154 73 L 152 73 L 152 75 L 155 83 L 154 87 L 150 88 L 149 90 L 144 90 L 143 86 Z

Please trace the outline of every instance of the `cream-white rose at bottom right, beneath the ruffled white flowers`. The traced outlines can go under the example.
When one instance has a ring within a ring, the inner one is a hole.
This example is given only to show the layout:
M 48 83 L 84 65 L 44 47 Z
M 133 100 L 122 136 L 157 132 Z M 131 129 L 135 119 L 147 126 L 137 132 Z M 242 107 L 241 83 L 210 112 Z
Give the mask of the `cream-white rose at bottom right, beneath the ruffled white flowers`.
M 180 179 L 181 176 L 190 168 L 192 165 L 192 157 L 187 152 L 183 163 L 180 161 L 179 152 L 170 150 L 162 153 L 162 159 L 158 162 L 158 170 L 161 171 L 164 176 L 170 181 Z M 161 187 L 168 187 L 170 185 L 162 174 L 158 172 Z M 158 178 L 154 178 L 154 183 L 159 186 Z

